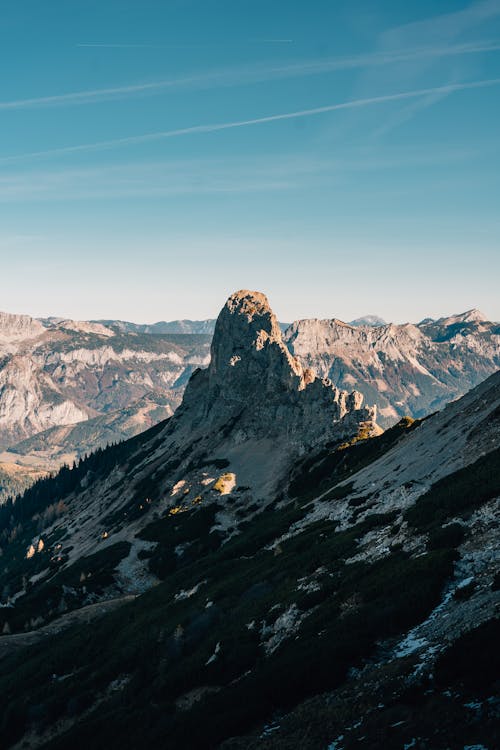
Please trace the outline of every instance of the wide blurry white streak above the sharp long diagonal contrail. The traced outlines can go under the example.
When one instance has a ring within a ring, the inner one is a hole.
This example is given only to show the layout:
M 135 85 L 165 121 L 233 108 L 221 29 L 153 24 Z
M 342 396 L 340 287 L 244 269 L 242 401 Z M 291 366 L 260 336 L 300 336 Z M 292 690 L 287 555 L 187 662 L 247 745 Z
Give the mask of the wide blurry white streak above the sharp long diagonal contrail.
M 240 67 L 214 70 L 209 73 L 193 74 L 176 78 L 149 81 L 125 86 L 73 91 L 11 101 L 0 101 L 0 110 L 35 109 L 40 107 L 93 104 L 111 99 L 126 98 L 143 94 L 158 94 L 169 89 L 217 88 L 239 86 L 261 81 L 279 80 L 300 76 L 321 75 L 340 70 L 356 68 L 378 68 L 398 65 L 403 62 L 435 59 L 460 55 L 476 55 L 500 50 L 500 42 L 468 42 L 455 45 L 421 46 L 409 48 L 403 45 L 399 50 L 355 55 L 352 57 L 309 60 L 287 65 Z

